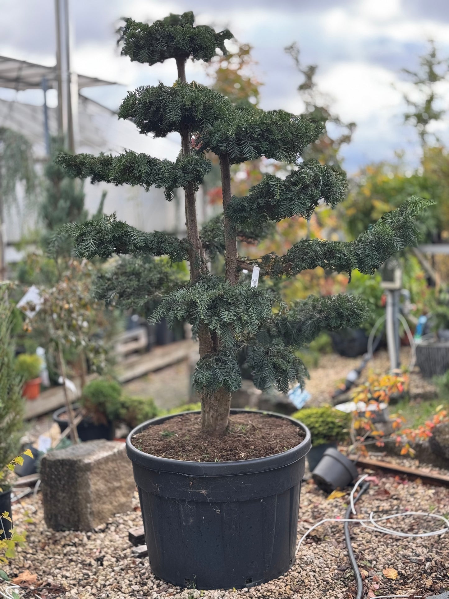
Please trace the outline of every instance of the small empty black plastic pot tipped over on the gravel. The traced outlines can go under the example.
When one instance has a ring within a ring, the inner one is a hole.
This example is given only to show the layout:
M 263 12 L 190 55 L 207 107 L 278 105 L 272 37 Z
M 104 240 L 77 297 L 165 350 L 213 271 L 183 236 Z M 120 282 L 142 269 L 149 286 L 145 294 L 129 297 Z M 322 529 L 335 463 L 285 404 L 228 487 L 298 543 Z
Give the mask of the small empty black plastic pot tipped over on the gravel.
M 313 480 L 326 493 L 344 489 L 359 476 L 356 465 L 342 453 L 329 447 L 312 473 Z

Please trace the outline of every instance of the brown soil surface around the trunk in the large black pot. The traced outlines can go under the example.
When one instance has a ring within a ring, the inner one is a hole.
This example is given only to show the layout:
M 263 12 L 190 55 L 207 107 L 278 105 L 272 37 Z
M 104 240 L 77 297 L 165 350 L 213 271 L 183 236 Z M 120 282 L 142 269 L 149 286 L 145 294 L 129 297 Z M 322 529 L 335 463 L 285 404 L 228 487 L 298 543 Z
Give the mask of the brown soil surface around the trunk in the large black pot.
M 201 432 L 201 416 L 186 414 L 148 426 L 134 435 L 132 444 L 160 458 L 230 462 L 281 453 L 304 437 L 304 431 L 289 420 L 256 413 L 233 414 L 225 437 L 206 437 Z

